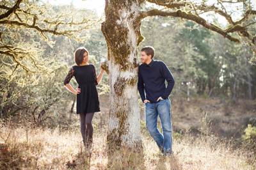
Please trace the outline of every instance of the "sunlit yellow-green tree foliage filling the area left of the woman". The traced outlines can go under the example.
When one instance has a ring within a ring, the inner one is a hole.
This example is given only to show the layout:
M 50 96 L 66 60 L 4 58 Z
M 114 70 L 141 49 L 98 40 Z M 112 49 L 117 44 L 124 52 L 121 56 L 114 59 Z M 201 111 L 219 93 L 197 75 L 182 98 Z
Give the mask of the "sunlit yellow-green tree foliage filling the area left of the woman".
M 67 93 L 60 93 L 67 63 L 97 23 L 95 13 L 40 1 L 1 1 L 0 12 L 1 118 L 18 116 L 18 121 L 35 125 L 46 119 L 52 126 L 60 123 L 65 109 L 60 105 L 67 102 Z M 50 111 L 54 114 L 47 114 Z

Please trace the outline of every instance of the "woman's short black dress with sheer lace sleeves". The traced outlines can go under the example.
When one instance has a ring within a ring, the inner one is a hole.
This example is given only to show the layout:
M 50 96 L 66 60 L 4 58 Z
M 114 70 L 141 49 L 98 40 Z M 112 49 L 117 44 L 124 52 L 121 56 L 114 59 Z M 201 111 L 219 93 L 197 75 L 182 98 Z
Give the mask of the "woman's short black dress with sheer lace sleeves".
M 76 113 L 100 112 L 99 96 L 97 92 L 97 75 L 95 66 L 92 64 L 83 66 L 71 66 L 64 84 L 75 77 L 80 93 L 76 95 Z

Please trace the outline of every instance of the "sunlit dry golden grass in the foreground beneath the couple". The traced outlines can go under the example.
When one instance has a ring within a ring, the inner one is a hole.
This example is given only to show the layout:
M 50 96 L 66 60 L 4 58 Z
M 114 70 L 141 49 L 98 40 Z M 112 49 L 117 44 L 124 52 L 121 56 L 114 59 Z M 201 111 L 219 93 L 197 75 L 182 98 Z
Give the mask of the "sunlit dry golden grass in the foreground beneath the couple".
M 95 129 L 90 153 L 79 128 L 0 127 L 0 169 L 253 169 L 246 151 L 232 150 L 214 136 L 175 137 L 173 157 L 164 158 L 146 132 L 143 153 L 136 153 L 108 151 L 106 132 Z

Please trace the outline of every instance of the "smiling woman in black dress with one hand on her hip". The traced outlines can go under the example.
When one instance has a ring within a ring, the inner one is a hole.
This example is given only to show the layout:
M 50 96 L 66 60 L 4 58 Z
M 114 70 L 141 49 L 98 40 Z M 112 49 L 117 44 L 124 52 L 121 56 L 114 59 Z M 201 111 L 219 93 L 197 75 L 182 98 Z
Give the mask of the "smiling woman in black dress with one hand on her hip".
M 102 69 L 102 63 L 100 63 L 100 73 L 96 76 L 95 66 L 88 63 L 89 52 L 84 47 L 76 49 L 74 52 L 74 60 L 76 65 L 71 66 L 64 80 L 64 85 L 68 91 L 76 95 L 76 113 L 80 115 L 80 130 L 84 146 L 87 148 L 92 146 L 93 142 L 93 114 L 94 112 L 100 112 L 96 85 L 101 81 L 104 70 Z M 76 89 L 69 84 L 73 76 L 77 84 L 79 84 Z

